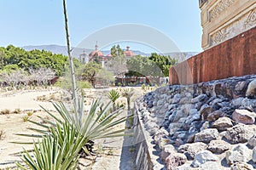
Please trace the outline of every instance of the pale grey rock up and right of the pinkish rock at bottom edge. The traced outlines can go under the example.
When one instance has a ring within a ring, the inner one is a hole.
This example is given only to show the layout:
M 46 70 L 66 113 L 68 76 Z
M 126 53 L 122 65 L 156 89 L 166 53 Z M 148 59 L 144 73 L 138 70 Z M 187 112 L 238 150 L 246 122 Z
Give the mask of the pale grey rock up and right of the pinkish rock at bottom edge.
M 188 160 L 194 159 L 196 153 L 206 149 L 207 144 L 204 144 L 202 142 L 196 142 L 193 144 L 183 144 L 178 147 L 178 151 L 184 153 L 187 156 Z

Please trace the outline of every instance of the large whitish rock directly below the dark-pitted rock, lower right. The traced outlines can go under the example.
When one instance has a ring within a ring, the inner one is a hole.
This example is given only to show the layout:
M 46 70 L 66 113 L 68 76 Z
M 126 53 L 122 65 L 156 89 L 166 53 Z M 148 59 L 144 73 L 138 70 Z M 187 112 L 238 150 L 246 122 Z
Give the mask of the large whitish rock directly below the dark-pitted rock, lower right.
M 228 164 L 233 164 L 237 161 L 247 162 L 251 159 L 252 152 L 245 144 L 237 144 L 231 150 L 226 152 L 226 161 Z

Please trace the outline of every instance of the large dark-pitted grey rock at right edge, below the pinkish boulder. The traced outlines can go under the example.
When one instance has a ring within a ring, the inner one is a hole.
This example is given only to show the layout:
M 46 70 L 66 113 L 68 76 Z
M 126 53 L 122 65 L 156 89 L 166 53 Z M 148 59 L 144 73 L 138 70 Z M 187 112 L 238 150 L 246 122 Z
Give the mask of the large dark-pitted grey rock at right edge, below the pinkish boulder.
M 255 127 L 237 124 L 234 127 L 228 128 L 224 138 L 228 139 L 231 144 L 245 143 L 248 139 L 252 138 L 255 133 Z

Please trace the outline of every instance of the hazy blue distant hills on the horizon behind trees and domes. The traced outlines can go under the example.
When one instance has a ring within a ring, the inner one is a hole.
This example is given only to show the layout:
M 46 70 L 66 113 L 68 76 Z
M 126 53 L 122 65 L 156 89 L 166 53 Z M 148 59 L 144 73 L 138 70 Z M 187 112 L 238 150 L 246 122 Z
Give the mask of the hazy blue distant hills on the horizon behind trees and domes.
M 38 45 L 38 46 L 24 46 L 21 47 L 24 48 L 26 51 L 31 51 L 33 49 L 38 50 L 45 50 L 50 51 L 53 54 L 63 54 L 67 56 L 67 47 L 66 46 L 60 46 L 60 45 Z M 90 54 L 91 51 L 94 49 L 88 49 L 88 48 L 72 48 L 72 55 L 73 57 L 78 58 L 79 54 L 83 54 L 85 52 L 86 54 Z M 139 50 L 132 50 L 134 54 L 140 54 L 143 56 L 150 56 L 150 54 L 143 53 Z M 105 55 L 110 54 L 110 50 L 102 50 L 102 53 Z M 182 52 L 182 53 L 165 53 L 164 55 L 170 55 L 172 58 L 177 58 L 179 60 L 188 59 L 191 56 L 194 56 L 195 54 L 198 54 L 198 52 Z

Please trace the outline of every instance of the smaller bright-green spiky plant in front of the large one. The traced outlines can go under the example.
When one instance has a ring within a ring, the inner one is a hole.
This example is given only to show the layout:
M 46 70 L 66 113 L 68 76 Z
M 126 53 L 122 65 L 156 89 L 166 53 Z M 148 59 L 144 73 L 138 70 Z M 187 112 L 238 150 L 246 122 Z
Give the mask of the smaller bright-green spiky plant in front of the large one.
M 76 128 L 65 122 L 50 127 L 50 133 L 33 144 L 33 152 L 27 150 L 21 157 L 22 164 L 16 163 L 22 170 L 66 170 L 76 169 L 79 163 L 79 151 L 84 146 L 84 137 Z

